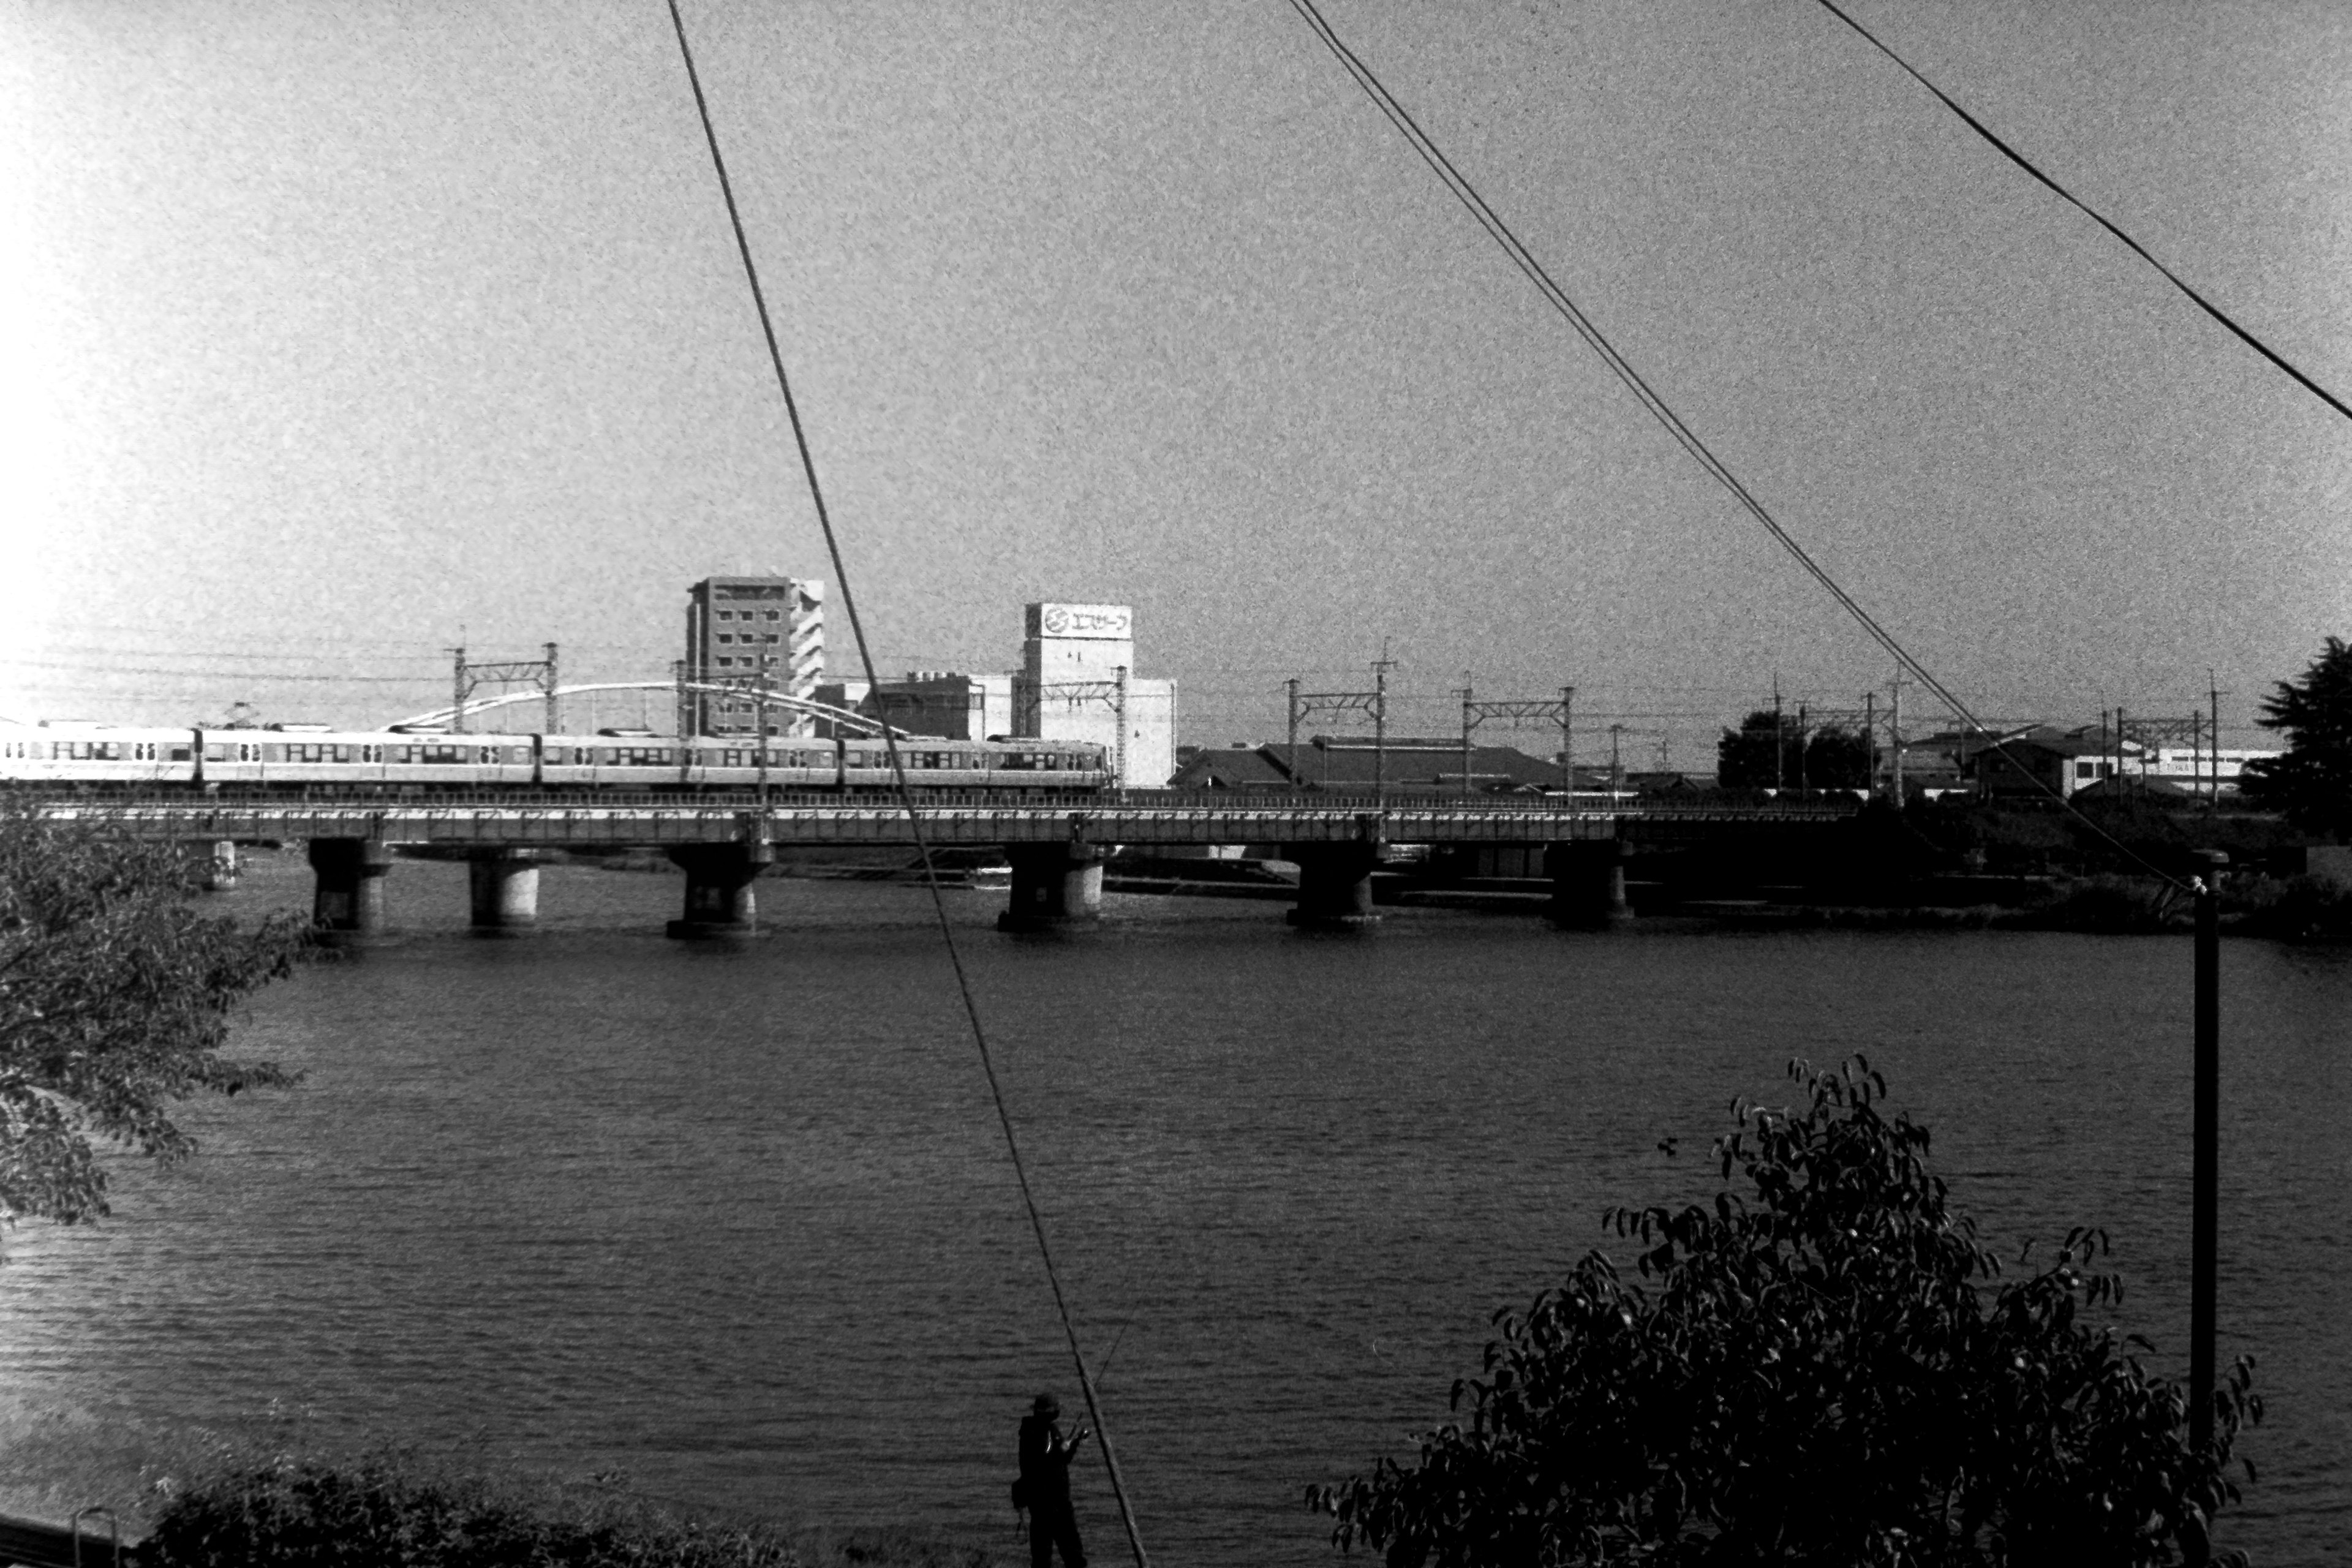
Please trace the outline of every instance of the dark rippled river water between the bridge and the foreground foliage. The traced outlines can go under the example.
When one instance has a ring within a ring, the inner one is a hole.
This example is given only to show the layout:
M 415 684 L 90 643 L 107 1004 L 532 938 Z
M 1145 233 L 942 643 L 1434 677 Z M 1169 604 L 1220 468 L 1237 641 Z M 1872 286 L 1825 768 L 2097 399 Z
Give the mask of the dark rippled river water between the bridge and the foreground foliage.
M 463 870 L 397 865 L 407 940 L 259 997 L 240 1051 L 299 1088 L 193 1105 L 195 1161 L 9 1234 L 14 1502 L 275 1420 L 1011 1554 L 1014 1427 L 1075 1389 L 927 896 L 764 882 L 771 936 L 717 950 L 661 936 L 675 877 L 550 867 L 501 943 Z M 285 856 L 223 903 L 306 898 Z M 1409 1453 L 1489 1314 L 1606 1206 L 1703 1192 L 1726 1103 L 1783 1103 L 1799 1053 L 1867 1051 L 2011 1255 L 2105 1225 L 2119 1319 L 2185 1356 L 2185 940 L 1310 936 L 1120 896 L 1009 938 L 1002 893 L 950 900 L 1164 1563 L 1331 1561 L 1305 1486 Z M 2352 950 L 2227 943 L 2223 983 L 2223 1359 L 2270 1401 L 2223 1542 L 2345 1561 Z M 1098 1465 L 1080 1516 L 1117 1561 Z

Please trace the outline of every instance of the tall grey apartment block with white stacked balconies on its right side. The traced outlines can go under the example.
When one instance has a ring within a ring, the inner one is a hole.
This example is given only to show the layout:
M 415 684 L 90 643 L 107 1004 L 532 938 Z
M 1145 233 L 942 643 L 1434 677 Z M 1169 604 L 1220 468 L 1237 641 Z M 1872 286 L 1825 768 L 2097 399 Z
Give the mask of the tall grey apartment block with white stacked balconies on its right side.
M 826 677 L 826 585 L 781 576 L 710 576 L 687 590 L 689 682 L 814 698 Z M 748 696 L 694 691 L 687 726 L 699 736 L 760 729 Z M 771 736 L 811 733 L 809 715 L 769 712 Z

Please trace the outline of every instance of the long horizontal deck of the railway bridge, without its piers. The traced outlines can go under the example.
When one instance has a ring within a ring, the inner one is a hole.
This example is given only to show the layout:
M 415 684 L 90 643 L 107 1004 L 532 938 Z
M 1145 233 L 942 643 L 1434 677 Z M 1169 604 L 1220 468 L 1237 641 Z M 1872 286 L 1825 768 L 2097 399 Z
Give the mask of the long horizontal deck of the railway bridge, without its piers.
M 466 799 L 52 797 L 45 816 L 158 839 L 383 839 L 393 844 L 913 844 L 903 806 L 840 797 L 701 802 L 677 797 L 506 795 Z M 1265 797 L 1235 802 L 1129 790 L 1084 804 L 917 799 L 922 837 L 943 846 L 1044 844 L 1559 844 L 1679 837 L 1724 827 L 1823 827 L 1842 806 L 1604 806 Z

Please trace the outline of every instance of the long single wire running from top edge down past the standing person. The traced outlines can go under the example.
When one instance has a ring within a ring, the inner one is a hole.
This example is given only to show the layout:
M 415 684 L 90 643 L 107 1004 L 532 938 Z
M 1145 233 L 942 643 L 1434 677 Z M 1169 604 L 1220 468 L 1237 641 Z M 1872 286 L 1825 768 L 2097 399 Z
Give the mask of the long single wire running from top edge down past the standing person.
M 783 397 L 783 411 L 793 425 L 793 444 L 800 449 L 800 470 L 809 482 L 809 501 L 816 508 L 816 527 L 826 536 L 826 555 L 833 562 L 833 581 L 842 590 L 842 614 L 849 618 L 849 635 L 856 642 L 866 679 L 880 686 L 873 649 L 866 642 L 866 623 L 858 616 L 856 595 L 849 588 L 849 564 L 842 559 L 842 541 L 833 527 L 833 512 L 826 505 L 826 491 L 816 477 L 816 456 L 809 449 L 809 433 L 800 418 L 800 400 L 793 397 L 793 378 L 783 369 L 783 348 L 776 343 L 776 324 L 767 308 L 767 294 L 760 287 L 760 268 L 750 254 L 750 237 L 743 233 L 743 212 L 736 205 L 734 181 L 727 179 L 727 160 L 720 153 L 717 127 L 710 122 L 710 101 L 703 96 L 703 80 L 694 68 L 694 49 L 687 42 L 687 19 L 680 14 L 677 0 L 668 0 L 668 7 L 670 26 L 677 33 L 677 52 L 687 63 L 687 82 L 694 87 L 694 113 L 703 122 L 703 141 L 710 146 L 710 167 L 717 172 L 720 195 L 727 200 L 727 221 L 734 228 L 736 254 L 743 259 L 743 280 L 750 284 L 753 308 L 760 315 L 760 334 L 767 339 L 767 357 L 776 371 L 776 390 Z M 1054 1267 L 1054 1248 L 1047 1241 L 1044 1215 L 1040 1213 L 1037 1194 L 1030 1187 L 1028 1161 L 1021 1159 L 1021 1140 L 1014 1135 L 1011 1110 L 1004 1105 L 1004 1084 L 997 1079 L 995 1053 L 988 1048 L 988 1030 L 981 1023 L 981 1004 L 971 992 L 971 976 L 964 971 L 964 954 L 955 943 L 955 924 L 948 919 L 948 900 L 938 884 L 938 867 L 931 863 L 931 844 L 922 832 L 922 811 L 915 806 L 915 792 L 906 776 L 906 762 L 898 755 L 894 726 L 882 726 L 882 743 L 889 752 L 891 778 L 898 785 L 898 804 L 906 809 L 908 827 L 915 835 L 915 853 L 922 858 L 922 879 L 931 889 L 931 912 L 938 917 L 938 936 L 948 947 L 948 966 L 955 971 L 955 990 L 964 1004 L 964 1020 L 971 1025 L 971 1044 L 978 1048 L 981 1072 L 988 1077 L 988 1095 L 997 1110 L 1004 1150 L 1011 1157 L 1014 1178 L 1021 1185 L 1021 1206 L 1028 1211 L 1030 1234 L 1037 1239 L 1037 1255 L 1044 1262 L 1047 1284 L 1054 1288 L 1054 1312 L 1061 1316 L 1063 1340 L 1068 1340 L 1070 1347 L 1070 1363 L 1077 1368 L 1077 1387 L 1087 1399 L 1087 1415 L 1094 1420 L 1096 1439 L 1103 1443 L 1103 1467 L 1110 1472 L 1110 1493 L 1120 1505 L 1120 1523 L 1127 1526 L 1127 1547 L 1136 1559 L 1136 1568 L 1148 1568 L 1143 1537 L 1136 1530 L 1134 1507 L 1127 1500 L 1127 1481 L 1120 1476 L 1117 1450 L 1110 1446 L 1110 1427 L 1103 1422 L 1103 1410 L 1094 1392 L 1094 1378 L 1087 1373 L 1087 1356 L 1077 1342 L 1077 1326 L 1070 1321 L 1070 1302 L 1061 1286 L 1061 1272 Z

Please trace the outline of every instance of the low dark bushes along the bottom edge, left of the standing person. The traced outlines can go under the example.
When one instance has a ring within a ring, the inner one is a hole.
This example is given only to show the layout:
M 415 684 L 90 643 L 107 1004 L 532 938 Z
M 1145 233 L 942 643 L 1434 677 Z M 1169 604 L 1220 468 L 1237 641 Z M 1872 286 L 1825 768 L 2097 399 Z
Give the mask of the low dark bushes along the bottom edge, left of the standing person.
M 988 1554 L 898 1533 L 710 1526 L 623 1497 L 576 1497 L 407 1453 L 287 1458 L 174 1495 L 141 1547 L 155 1568 L 985 1568 Z

